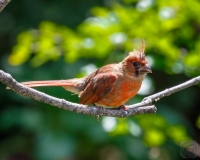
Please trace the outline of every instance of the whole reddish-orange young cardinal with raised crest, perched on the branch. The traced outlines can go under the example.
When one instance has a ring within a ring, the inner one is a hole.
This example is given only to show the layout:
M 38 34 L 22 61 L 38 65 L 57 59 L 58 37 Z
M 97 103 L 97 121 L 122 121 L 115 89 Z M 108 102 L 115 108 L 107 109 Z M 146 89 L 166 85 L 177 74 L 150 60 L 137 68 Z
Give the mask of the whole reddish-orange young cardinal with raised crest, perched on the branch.
M 81 104 L 126 110 L 124 104 L 139 91 L 146 73 L 152 73 L 144 51 L 143 42 L 140 49 L 130 52 L 122 62 L 105 65 L 83 78 L 22 84 L 28 87 L 62 86 L 78 94 Z

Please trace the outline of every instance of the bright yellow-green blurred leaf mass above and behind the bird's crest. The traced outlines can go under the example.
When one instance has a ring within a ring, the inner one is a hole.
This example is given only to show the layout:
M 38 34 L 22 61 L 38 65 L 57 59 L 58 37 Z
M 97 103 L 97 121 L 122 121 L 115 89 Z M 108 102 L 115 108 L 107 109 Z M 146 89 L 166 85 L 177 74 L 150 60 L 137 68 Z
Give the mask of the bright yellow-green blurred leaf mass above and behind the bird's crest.
M 198 1 L 196 4 L 191 1 L 154 4 L 152 1 L 146 4 L 152 5 L 149 8 L 143 3 L 147 2 L 141 1 L 136 7 L 117 2 L 113 2 L 110 8 L 93 7 L 91 16 L 75 31 L 44 21 L 37 30 L 24 31 L 18 36 L 9 63 L 20 65 L 31 57 L 30 63 L 39 66 L 62 55 L 68 63 L 81 57 L 105 58 L 115 48 L 126 52 L 132 50 L 137 46 L 138 37 L 144 37 L 147 51 L 154 53 L 156 68 L 164 67 L 168 73 L 198 75 L 200 39 L 196 35 L 200 22 L 193 20 L 195 13 L 198 16 Z M 164 63 L 156 64 L 159 61 L 156 54 L 165 59 Z

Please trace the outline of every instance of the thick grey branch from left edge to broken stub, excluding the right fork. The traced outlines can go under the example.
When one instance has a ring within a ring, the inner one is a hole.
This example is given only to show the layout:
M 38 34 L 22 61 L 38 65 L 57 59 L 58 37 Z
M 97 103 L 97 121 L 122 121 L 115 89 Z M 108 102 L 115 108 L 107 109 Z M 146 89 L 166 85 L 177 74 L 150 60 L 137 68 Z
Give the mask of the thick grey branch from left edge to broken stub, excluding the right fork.
M 76 104 L 68 102 L 64 99 L 58 99 L 52 96 L 49 96 L 45 93 L 39 92 L 33 88 L 29 88 L 24 86 L 21 83 L 18 83 L 12 76 L 4 71 L 0 70 L 0 81 L 4 83 L 7 87 L 12 89 L 17 94 L 23 95 L 25 97 L 30 97 L 35 100 L 38 100 L 43 103 L 50 104 L 52 106 L 56 106 L 61 109 L 73 111 L 81 114 L 88 114 L 92 116 L 112 116 L 112 117 L 127 117 L 131 115 L 137 114 L 145 114 L 145 113 L 155 113 L 155 106 L 144 106 L 138 108 L 130 108 L 128 111 L 123 110 L 114 110 L 114 109 L 102 109 L 100 107 L 87 107 L 85 105 Z

